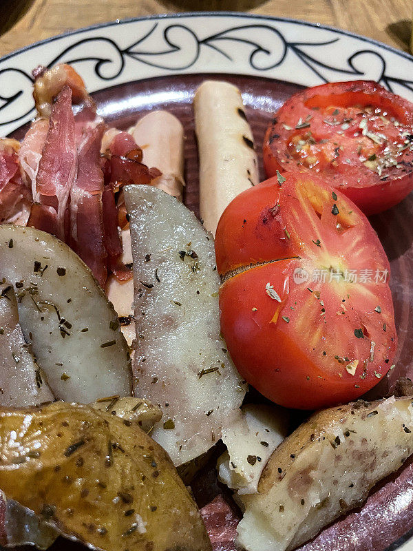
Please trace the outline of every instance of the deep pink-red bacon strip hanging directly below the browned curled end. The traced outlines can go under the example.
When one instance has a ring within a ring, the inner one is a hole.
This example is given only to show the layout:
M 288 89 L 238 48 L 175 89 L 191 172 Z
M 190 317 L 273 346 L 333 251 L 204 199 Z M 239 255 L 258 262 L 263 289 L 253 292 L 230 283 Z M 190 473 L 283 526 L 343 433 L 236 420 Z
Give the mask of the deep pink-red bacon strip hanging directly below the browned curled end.
M 65 238 L 65 210 L 70 189 L 76 179 L 78 152 L 72 90 L 64 86 L 52 108 L 43 154 L 36 177 L 36 193 L 41 205 L 54 207 L 57 236 Z

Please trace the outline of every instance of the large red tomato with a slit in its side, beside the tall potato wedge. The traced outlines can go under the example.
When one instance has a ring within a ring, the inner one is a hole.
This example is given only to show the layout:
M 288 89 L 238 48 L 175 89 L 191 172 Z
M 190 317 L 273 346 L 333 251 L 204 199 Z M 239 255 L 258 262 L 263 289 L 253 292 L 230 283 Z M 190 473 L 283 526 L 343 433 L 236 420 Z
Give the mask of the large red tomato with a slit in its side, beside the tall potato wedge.
M 366 216 L 307 174 L 244 191 L 218 224 L 221 329 L 246 381 L 277 404 L 356 399 L 392 366 L 390 266 Z

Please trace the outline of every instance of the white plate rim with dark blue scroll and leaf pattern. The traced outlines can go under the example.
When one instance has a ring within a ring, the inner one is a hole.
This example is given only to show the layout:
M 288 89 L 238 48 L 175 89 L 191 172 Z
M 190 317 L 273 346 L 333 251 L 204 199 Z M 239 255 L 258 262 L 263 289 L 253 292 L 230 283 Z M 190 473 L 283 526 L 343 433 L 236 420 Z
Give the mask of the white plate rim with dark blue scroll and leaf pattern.
M 62 61 L 76 67 L 91 92 L 156 76 L 212 72 L 307 86 L 375 80 L 413 101 L 413 80 L 408 78 L 413 57 L 367 37 L 318 23 L 240 12 L 162 14 L 92 25 L 1 58 L 3 136 L 34 114 L 32 69 Z M 183 96 L 170 99 L 191 101 Z M 248 103 L 248 97 L 244 100 Z

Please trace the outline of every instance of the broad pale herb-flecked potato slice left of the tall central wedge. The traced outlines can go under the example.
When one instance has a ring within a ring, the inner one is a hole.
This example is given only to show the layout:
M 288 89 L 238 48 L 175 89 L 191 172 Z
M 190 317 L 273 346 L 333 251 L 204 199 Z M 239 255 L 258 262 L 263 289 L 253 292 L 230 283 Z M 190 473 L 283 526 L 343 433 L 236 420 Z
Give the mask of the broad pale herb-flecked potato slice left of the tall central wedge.
M 72 249 L 49 233 L 2 225 L 0 278 L 17 287 L 23 335 L 57 398 L 131 395 L 118 316 Z

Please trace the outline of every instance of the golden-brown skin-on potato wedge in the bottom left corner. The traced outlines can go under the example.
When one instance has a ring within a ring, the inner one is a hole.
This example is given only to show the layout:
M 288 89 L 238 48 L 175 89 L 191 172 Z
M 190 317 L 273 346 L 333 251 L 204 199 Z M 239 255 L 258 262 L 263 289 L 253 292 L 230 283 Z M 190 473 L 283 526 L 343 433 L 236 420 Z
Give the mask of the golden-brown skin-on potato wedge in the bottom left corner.
M 90 406 L 0 408 L 0 487 L 70 539 L 105 551 L 209 551 L 164 450 Z

